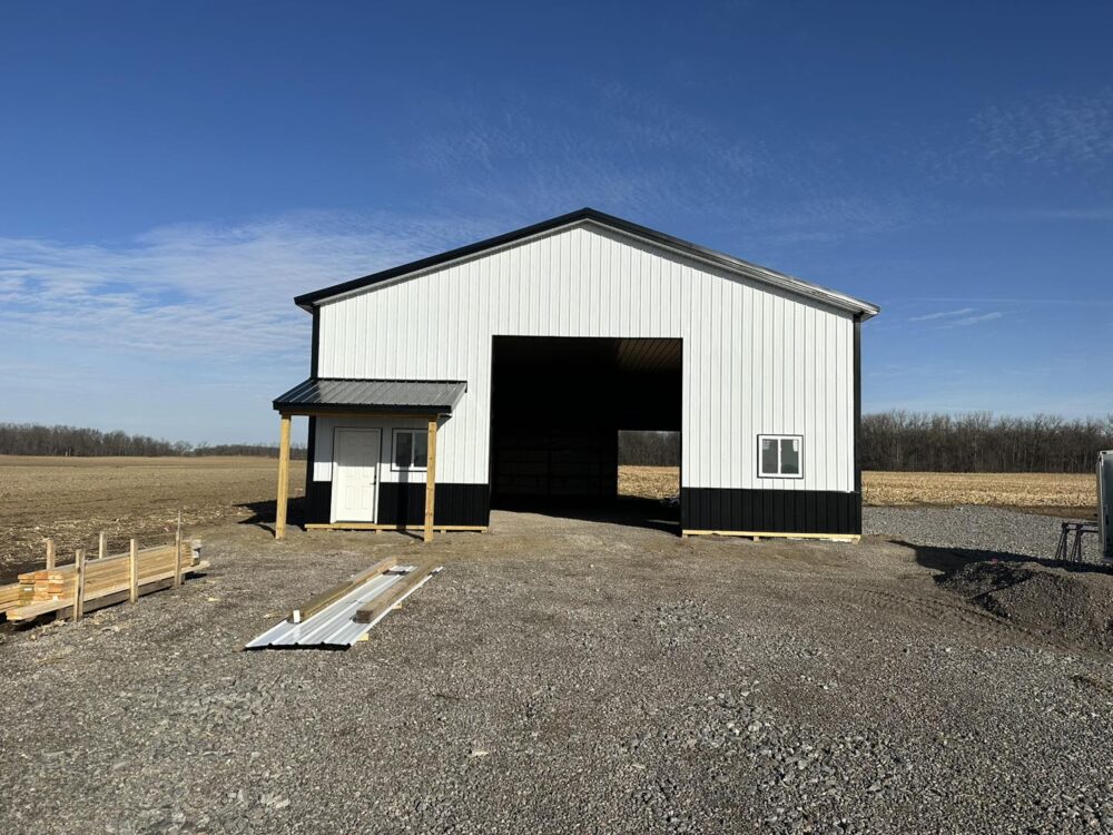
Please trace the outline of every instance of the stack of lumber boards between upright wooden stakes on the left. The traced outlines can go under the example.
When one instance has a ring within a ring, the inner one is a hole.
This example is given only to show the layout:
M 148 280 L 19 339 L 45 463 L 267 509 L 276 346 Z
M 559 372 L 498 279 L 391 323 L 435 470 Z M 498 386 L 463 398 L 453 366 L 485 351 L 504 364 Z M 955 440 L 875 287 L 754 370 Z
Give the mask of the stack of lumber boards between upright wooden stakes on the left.
M 132 588 L 132 559 L 135 583 Z M 160 546 L 79 563 L 56 566 L 19 574 L 19 582 L 0 587 L 0 611 L 20 621 L 48 612 L 77 615 L 132 597 L 176 586 L 181 577 L 208 568 L 200 560 L 200 542 Z M 78 600 L 79 577 L 82 577 Z

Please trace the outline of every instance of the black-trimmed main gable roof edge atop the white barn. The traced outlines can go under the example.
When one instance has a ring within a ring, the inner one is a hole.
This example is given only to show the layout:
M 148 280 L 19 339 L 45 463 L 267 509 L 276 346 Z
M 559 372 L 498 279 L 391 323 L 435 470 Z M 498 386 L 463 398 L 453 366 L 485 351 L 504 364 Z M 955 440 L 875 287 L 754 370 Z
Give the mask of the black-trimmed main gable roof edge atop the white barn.
M 400 278 L 411 273 L 425 272 L 454 261 L 479 255 L 480 253 L 489 249 L 498 249 L 526 238 L 543 235 L 561 227 L 585 223 L 597 224 L 623 235 L 640 238 L 649 242 L 650 244 L 654 244 L 666 249 L 671 249 L 681 255 L 710 264 L 711 266 L 779 287 L 788 291 L 789 293 L 796 293 L 797 295 L 824 302 L 833 307 L 850 311 L 851 313 L 861 316 L 864 320 L 876 316 L 880 312 L 880 308 L 877 305 L 870 304 L 869 302 L 865 302 L 860 298 L 855 298 L 854 296 L 849 296 L 845 293 L 839 293 L 836 289 L 812 284 L 811 282 L 806 282 L 785 273 L 778 273 L 777 271 L 769 269 L 768 267 L 751 264 L 748 261 L 736 258 L 732 255 L 727 255 L 726 253 L 720 253 L 716 249 L 709 249 L 705 246 L 699 246 L 698 244 L 692 244 L 689 240 L 682 240 L 681 238 L 666 235 L 663 232 L 657 232 L 656 229 L 650 229 L 646 226 L 639 226 L 638 224 L 630 223 L 629 220 L 623 220 L 621 217 L 597 212 L 593 208 L 582 208 L 577 212 L 570 212 L 567 215 L 560 215 L 558 217 L 550 218 L 549 220 L 542 220 L 539 224 L 533 224 L 532 226 L 525 226 L 521 229 L 515 229 L 514 232 L 508 232 L 504 235 L 498 235 L 493 238 L 486 238 L 485 240 L 469 244 L 467 246 L 450 249 L 449 252 L 441 253 L 440 255 L 432 255 L 427 258 L 421 258 L 420 261 L 384 269 L 381 273 L 372 273 L 371 275 L 365 275 L 362 278 L 353 278 L 348 282 L 334 284 L 331 287 L 324 287 L 322 289 L 313 291 L 312 293 L 305 293 L 297 296 L 294 299 L 294 304 L 298 307 L 312 311 L 322 302 L 326 302 L 337 296 L 348 295 L 365 287 L 388 282 L 392 278 Z

